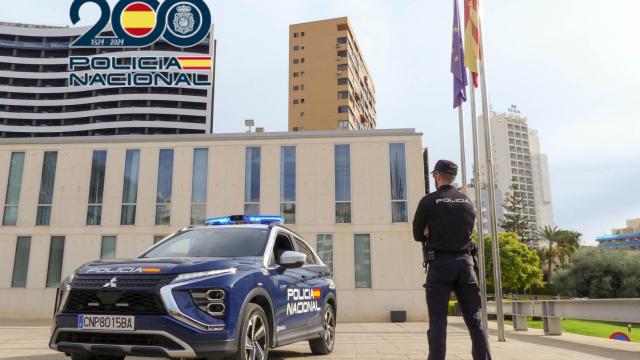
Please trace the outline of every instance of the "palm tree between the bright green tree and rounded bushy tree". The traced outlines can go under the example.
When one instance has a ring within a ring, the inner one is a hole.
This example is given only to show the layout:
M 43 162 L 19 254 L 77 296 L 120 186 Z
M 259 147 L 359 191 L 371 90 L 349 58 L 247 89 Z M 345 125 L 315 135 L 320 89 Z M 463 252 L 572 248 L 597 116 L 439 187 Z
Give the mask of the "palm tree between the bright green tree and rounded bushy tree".
M 553 264 L 560 263 L 562 268 L 566 267 L 571 256 L 580 247 L 581 234 L 571 230 L 559 230 L 557 226 L 548 225 L 540 227 L 537 233 L 540 240 L 546 243 L 542 251 L 549 266 L 547 281 L 551 284 Z

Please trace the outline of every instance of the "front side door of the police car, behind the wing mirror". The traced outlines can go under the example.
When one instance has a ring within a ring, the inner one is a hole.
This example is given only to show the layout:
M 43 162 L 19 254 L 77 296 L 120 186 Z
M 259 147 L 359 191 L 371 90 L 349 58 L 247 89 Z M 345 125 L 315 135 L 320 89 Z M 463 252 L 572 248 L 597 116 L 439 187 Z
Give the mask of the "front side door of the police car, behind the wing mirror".
M 280 268 L 280 256 L 285 251 L 295 251 L 289 234 L 279 231 L 273 244 L 271 259 L 269 260 L 269 278 L 273 289 L 271 301 L 275 308 L 276 332 L 294 330 L 299 326 L 299 317 L 293 310 L 297 294 L 296 289 L 304 287 L 304 278 L 300 269 Z

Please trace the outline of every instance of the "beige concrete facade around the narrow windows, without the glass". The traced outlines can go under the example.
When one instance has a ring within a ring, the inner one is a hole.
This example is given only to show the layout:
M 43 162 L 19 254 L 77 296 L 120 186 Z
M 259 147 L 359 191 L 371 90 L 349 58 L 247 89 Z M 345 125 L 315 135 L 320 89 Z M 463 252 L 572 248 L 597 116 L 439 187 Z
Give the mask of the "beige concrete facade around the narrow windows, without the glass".
M 388 321 L 390 310 L 406 310 L 409 320 L 424 320 L 424 272 L 411 221 L 424 194 L 421 134 L 412 130 L 305 132 L 297 134 L 206 135 L 27 139 L 0 145 L 0 203 L 4 204 L 12 151 L 26 151 L 17 226 L 0 226 L 0 317 L 51 315 L 54 290 L 46 289 L 52 235 L 66 237 L 63 278 L 79 265 L 99 258 L 101 237 L 116 235 L 116 256 L 134 257 L 189 224 L 193 149 L 209 148 L 207 215 L 243 212 L 245 147 L 262 148 L 262 213 L 279 212 L 280 146 L 296 145 L 296 224 L 292 230 L 312 246 L 319 233 L 333 234 L 334 271 L 341 321 Z M 24 140 L 23 140 L 24 141 Z M 391 222 L 389 143 L 406 145 L 409 222 Z M 352 223 L 335 224 L 333 146 L 351 144 Z M 120 225 L 126 149 L 140 149 L 137 218 Z M 171 224 L 154 225 L 160 149 L 174 153 Z M 107 150 L 102 225 L 87 226 L 92 150 Z M 50 226 L 35 226 L 37 194 L 45 150 L 57 150 Z M 0 208 L 0 218 L 4 207 Z M 353 236 L 371 236 L 372 288 L 356 289 Z M 11 288 L 16 238 L 32 237 L 26 288 Z

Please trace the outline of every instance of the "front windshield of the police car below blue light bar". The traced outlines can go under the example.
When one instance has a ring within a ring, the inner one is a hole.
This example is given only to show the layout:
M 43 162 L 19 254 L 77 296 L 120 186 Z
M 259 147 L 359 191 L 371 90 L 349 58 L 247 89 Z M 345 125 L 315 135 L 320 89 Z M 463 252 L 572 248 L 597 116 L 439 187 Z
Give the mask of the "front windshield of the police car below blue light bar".
M 262 228 L 201 228 L 180 232 L 142 257 L 262 256 L 269 230 Z

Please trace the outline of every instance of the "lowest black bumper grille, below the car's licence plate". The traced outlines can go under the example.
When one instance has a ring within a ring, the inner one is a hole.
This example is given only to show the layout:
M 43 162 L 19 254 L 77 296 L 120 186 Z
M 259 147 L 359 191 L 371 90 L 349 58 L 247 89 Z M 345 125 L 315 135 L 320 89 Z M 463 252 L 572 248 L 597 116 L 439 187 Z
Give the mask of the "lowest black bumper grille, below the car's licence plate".
M 184 350 L 175 341 L 156 334 L 115 334 L 100 332 L 62 331 L 56 338 L 61 342 L 105 345 L 159 346 L 167 350 Z

